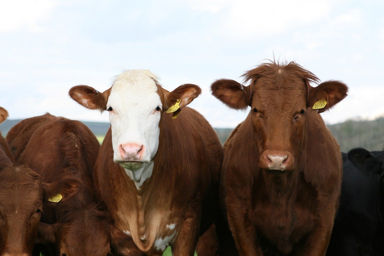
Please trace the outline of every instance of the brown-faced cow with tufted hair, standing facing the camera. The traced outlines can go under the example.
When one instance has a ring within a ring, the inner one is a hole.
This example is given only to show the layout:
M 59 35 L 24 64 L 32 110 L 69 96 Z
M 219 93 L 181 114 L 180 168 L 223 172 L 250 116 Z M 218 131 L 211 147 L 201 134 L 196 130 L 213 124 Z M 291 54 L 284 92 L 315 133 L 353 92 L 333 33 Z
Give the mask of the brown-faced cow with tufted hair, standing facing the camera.
M 342 161 L 319 113 L 343 100 L 348 87 L 339 81 L 312 87 L 318 78 L 294 62 L 264 63 L 243 77 L 249 86 L 229 79 L 211 86 L 230 108 L 251 107 L 224 145 L 220 183 L 223 215 L 238 253 L 324 255 Z M 324 99 L 323 108 L 312 109 Z M 236 254 L 222 225 L 217 224 L 220 255 Z

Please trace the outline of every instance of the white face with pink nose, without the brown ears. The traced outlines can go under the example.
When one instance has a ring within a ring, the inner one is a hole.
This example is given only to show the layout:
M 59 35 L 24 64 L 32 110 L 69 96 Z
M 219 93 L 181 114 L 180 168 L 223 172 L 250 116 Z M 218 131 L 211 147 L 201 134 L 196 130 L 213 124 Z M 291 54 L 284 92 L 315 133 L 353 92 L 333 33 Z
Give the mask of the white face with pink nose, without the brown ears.
M 151 161 L 159 146 L 162 103 L 155 81 L 148 70 L 128 70 L 116 78 L 108 98 L 113 160 L 132 171 Z

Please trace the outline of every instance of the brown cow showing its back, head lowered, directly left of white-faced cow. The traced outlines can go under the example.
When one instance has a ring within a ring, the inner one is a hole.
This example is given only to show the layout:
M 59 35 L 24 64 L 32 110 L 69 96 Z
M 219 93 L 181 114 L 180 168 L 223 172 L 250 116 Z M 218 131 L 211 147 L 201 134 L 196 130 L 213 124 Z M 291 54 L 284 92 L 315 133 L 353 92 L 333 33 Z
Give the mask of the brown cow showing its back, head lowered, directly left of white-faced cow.
M 15 161 L 36 170 L 47 182 L 81 181 L 72 198 L 43 204 L 37 242 L 55 243 L 60 255 L 141 255 L 127 248 L 132 239 L 99 210 L 92 173 L 100 144 L 83 123 L 50 115 L 20 121 L 8 132 Z M 136 251 L 135 251 L 136 250 Z

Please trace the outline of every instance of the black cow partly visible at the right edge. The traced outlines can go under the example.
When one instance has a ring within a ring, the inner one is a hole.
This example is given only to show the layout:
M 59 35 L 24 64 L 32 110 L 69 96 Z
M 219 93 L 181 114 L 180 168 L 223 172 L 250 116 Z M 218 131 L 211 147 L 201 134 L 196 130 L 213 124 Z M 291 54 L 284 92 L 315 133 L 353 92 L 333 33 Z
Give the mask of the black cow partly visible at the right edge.
M 384 151 L 343 153 L 340 206 L 327 255 L 384 255 Z

